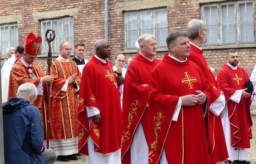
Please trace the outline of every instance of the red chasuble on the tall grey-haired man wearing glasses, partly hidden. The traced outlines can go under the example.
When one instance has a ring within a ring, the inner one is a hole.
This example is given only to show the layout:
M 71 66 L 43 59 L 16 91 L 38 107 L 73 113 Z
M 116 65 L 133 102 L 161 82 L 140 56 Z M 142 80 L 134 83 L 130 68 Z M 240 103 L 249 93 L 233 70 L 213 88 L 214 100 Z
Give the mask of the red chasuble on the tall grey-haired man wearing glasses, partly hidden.
M 211 94 L 208 99 L 208 112 L 207 117 L 205 117 L 205 125 L 210 161 L 211 164 L 217 164 L 225 161 L 228 158 L 228 153 L 221 117 L 217 117 L 209 109 L 212 103 L 220 97 L 221 90 L 218 89 L 215 77 L 203 56 L 203 51 L 192 44 L 190 46 L 190 56 L 188 59 L 194 62 L 201 69 L 211 90 Z

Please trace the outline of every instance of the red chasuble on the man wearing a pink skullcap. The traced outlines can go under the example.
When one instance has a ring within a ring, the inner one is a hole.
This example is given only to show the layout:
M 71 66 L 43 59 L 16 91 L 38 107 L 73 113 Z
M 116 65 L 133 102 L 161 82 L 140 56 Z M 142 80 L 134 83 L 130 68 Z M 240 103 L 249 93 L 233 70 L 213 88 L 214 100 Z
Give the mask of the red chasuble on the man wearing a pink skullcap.
M 89 121 L 86 107 L 100 111 L 101 122 Z M 78 107 L 79 141 L 78 151 L 88 155 L 89 136 L 95 143 L 94 151 L 102 154 L 115 152 L 121 147 L 121 104 L 116 77 L 107 60 L 99 61 L 94 55 L 85 65 L 79 93 Z

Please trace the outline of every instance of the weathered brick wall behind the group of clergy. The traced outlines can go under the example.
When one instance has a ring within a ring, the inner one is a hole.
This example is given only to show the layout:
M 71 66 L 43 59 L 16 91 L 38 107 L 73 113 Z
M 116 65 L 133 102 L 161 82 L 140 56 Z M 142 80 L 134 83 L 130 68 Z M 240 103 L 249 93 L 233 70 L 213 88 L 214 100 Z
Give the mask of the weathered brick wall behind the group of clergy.
M 117 2 L 129 2 L 136 0 L 109 0 L 109 44 L 112 48 L 110 61 L 114 64 L 114 57 L 120 51 L 124 52 L 124 13 L 117 11 Z M 155 0 L 137 0 L 140 6 L 142 1 Z M 163 0 L 166 1 L 166 0 Z M 210 0 L 169 0 L 173 5 L 167 6 L 168 11 L 168 31 L 173 29 L 185 30 L 189 20 L 200 19 L 200 4 Z M 196 1 L 196 2 L 195 2 Z M 212 0 L 216 1 L 216 0 Z M 217 0 L 218 1 L 218 0 Z M 1 16 L 22 15 L 22 20 L 18 22 L 19 44 L 23 45 L 29 32 L 40 35 L 40 20 L 33 19 L 34 12 L 56 11 L 68 8 L 78 8 L 78 15 L 74 19 L 74 43 L 85 43 L 85 58 L 90 59 L 94 53 L 93 44 L 97 39 L 104 39 L 104 0 L 8 0 L 0 2 L 0 24 Z M 144 3 L 145 4 L 145 3 Z M 149 3 L 150 5 L 150 3 Z M 138 7 L 134 6 L 134 7 Z M 132 7 L 132 6 L 130 6 Z M 147 6 L 141 6 L 146 8 Z M 150 8 L 151 6 L 149 6 Z M 151 7 L 152 8 L 152 7 Z M 256 63 L 256 48 L 242 47 L 237 48 L 240 53 L 241 66 L 249 74 L 252 72 Z M 166 50 L 166 49 L 165 49 Z M 215 68 L 216 73 L 221 69 L 225 62 L 225 49 L 203 49 L 206 60 L 210 67 Z M 125 53 L 127 58 L 134 57 L 135 51 Z M 159 51 L 156 58 L 161 59 L 166 51 Z M 55 59 L 58 54 L 53 54 Z M 1 58 L 3 60 L 3 58 Z M 46 55 L 38 55 L 37 63 L 46 71 Z

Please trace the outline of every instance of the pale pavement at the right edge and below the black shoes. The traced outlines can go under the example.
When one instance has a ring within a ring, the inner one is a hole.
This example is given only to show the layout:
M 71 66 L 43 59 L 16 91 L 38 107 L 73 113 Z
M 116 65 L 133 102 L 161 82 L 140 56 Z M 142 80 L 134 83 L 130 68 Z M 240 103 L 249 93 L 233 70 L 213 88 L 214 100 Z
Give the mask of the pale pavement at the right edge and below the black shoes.
M 251 113 L 253 117 L 253 139 L 251 140 L 251 149 L 249 149 L 249 158 L 248 160 L 251 161 L 251 164 L 256 164 L 256 102 L 252 103 L 251 106 Z M 68 162 L 61 162 L 55 161 L 54 164 L 86 164 L 86 156 L 78 156 L 77 161 L 68 161 Z

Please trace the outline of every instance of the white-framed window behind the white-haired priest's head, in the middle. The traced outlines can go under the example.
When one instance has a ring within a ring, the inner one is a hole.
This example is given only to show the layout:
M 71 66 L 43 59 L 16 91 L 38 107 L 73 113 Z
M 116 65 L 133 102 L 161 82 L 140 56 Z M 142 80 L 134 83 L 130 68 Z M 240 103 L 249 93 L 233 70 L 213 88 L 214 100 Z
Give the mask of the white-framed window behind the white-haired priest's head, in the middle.
M 135 48 L 141 34 L 152 34 L 157 38 L 157 46 L 166 46 L 167 10 L 152 9 L 125 13 L 125 47 Z

